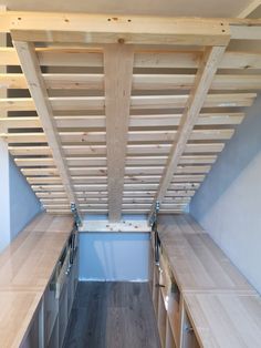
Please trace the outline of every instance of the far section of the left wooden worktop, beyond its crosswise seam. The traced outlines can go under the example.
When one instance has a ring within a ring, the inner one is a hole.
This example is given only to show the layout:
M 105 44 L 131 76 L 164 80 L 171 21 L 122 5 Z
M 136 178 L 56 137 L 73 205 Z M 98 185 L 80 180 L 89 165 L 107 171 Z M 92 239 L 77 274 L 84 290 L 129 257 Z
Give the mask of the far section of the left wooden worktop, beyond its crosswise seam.
M 0 255 L 0 291 L 43 294 L 73 228 L 71 216 L 41 214 Z

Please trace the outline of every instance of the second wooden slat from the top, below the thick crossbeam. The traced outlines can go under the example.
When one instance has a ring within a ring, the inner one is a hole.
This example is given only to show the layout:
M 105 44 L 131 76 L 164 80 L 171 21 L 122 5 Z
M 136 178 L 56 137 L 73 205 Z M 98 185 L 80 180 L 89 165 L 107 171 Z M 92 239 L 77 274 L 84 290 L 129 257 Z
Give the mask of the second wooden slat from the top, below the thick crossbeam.
M 104 74 L 43 74 L 48 90 L 103 90 Z M 133 90 L 168 91 L 189 90 L 194 85 L 194 74 L 134 74 Z M 261 76 L 248 74 L 219 74 L 213 78 L 210 90 L 260 90 Z M 27 79 L 20 73 L 0 74 L 1 89 L 28 89 Z

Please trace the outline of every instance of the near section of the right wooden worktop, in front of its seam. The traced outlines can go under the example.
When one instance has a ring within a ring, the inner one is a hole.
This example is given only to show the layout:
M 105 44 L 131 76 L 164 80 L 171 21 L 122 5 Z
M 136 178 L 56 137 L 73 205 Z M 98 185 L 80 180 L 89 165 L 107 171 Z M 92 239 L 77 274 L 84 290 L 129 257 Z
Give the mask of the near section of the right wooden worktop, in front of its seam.
M 184 299 L 201 347 L 260 347 L 259 296 L 186 293 Z

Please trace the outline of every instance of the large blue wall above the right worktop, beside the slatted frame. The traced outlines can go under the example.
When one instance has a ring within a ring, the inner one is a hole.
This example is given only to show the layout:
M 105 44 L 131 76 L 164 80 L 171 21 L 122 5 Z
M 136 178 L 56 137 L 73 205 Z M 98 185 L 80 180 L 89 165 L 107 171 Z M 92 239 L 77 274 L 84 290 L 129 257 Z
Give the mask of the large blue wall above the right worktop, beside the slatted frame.
M 261 293 L 261 96 L 192 198 L 190 213 Z

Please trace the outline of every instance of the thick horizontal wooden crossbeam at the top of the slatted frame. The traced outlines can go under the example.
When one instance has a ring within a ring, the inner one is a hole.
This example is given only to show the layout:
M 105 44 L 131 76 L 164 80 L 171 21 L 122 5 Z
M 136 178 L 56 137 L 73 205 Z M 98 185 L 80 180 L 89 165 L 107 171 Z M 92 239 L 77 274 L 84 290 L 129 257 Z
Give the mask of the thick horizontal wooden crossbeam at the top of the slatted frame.
M 8 11 L 0 31 L 15 41 L 227 45 L 229 24 L 219 20 Z

